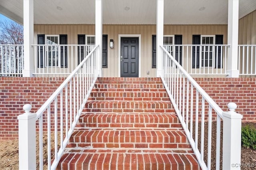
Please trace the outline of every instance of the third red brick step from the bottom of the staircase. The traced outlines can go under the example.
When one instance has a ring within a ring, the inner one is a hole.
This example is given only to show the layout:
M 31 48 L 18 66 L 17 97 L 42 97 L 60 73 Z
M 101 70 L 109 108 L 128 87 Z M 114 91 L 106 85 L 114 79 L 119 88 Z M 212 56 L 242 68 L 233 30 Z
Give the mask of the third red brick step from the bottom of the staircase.
M 78 127 L 181 127 L 178 117 L 172 114 L 83 113 Z

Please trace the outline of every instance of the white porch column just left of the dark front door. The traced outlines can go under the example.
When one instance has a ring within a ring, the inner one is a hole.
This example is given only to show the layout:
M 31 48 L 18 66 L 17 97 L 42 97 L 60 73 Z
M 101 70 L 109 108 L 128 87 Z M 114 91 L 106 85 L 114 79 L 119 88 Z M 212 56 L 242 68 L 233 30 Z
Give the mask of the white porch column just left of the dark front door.
M 95 44 L 100 45 L 98 50 L 98 73 L 102 76 L 102 0 L 95 0 Z

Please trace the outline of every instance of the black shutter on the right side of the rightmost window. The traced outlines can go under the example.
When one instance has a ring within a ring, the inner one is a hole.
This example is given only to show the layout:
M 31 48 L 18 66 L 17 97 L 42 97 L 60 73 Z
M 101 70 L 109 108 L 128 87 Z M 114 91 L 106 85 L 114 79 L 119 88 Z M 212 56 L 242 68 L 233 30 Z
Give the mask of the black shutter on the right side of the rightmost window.
M 223 45 L 223 35 L 215 35 L 215 44 L 216 45 Z M 218 49 L 217 49 L 218 47 Z M 221 49 L 222 47 L 220 46 L 216 46 L 215 47 L 215 68 L 217 68 L 217 65 L 218 65 L 218 68 L 223 68 L 223 58 L 221 56 Z M 218 61 L 217 61 L 217 58 L 218 58 Z M 218 62 L 218 63 L 217 63 Z

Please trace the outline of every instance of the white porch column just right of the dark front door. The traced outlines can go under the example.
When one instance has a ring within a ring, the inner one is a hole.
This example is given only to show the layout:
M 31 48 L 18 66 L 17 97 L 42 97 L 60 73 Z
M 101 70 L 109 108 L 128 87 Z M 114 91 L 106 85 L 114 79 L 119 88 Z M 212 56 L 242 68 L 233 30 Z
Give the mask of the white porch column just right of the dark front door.
M 162 74 L 162 54 L 160 45 L 164 41 L 164 0 L 156 1 L 156 76 Z

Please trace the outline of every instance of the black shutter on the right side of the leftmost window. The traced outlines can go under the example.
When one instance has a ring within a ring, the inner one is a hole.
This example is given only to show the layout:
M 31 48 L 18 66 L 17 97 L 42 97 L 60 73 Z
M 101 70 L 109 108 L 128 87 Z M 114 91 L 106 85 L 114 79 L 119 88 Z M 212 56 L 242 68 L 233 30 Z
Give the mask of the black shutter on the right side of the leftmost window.
M 68 35 L 60 35 L 60 45 L 67 45 L 67 44 L 68 44 Z M 68 46 L 60 47 L 60 66 L 61 68 L 63 68 L 64 66 L 65 68 L 68 68 Z

